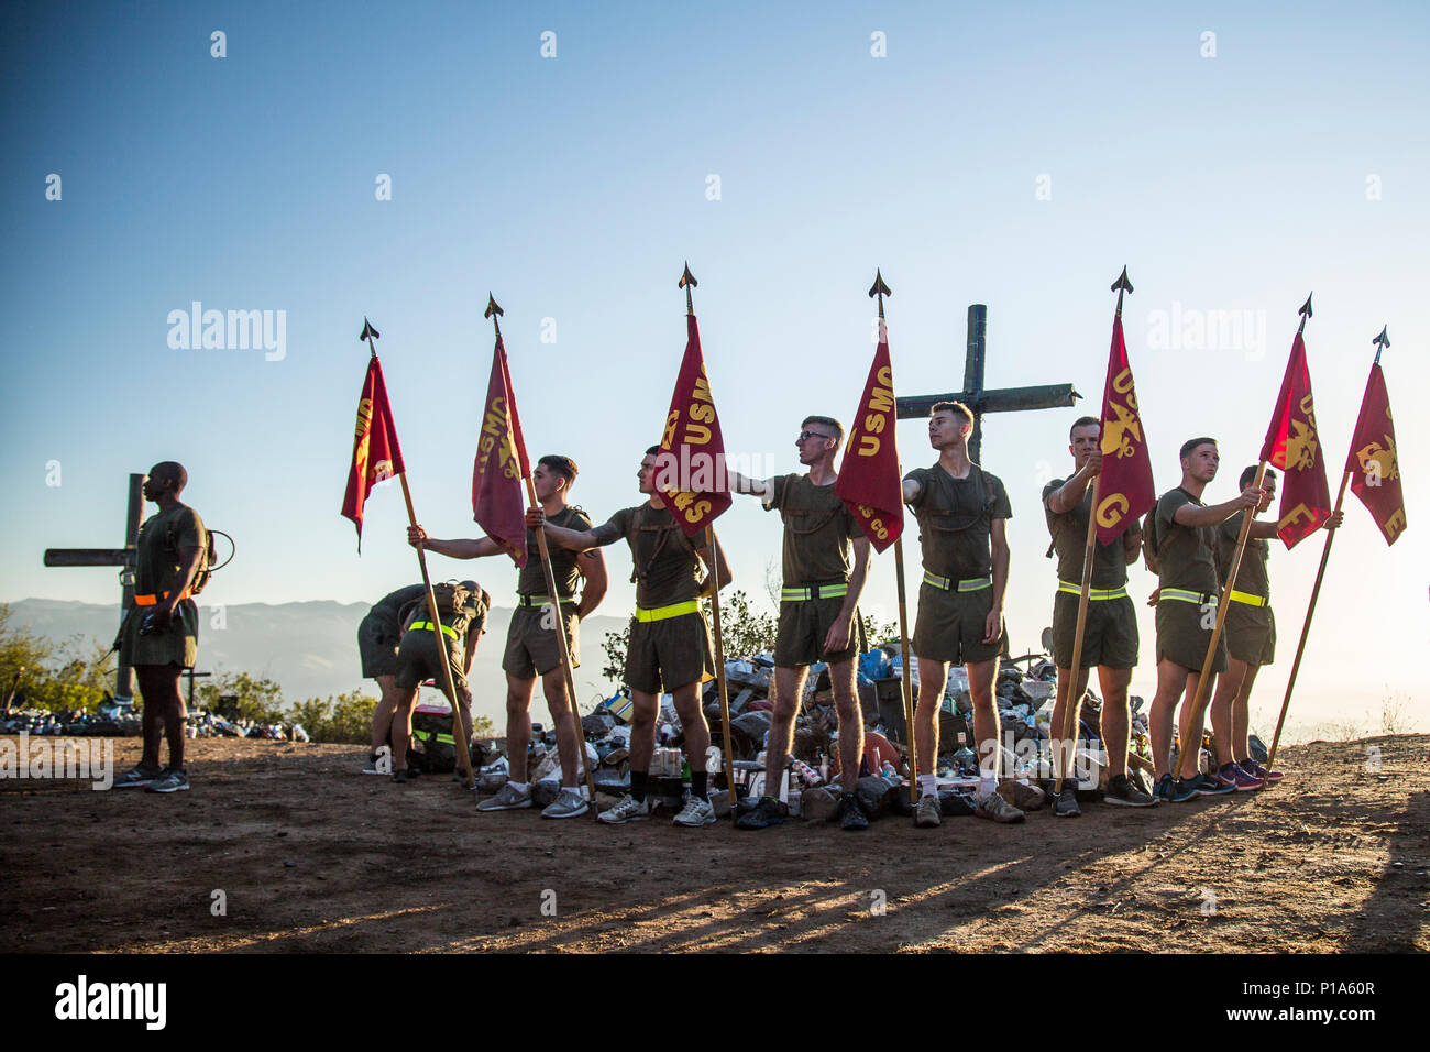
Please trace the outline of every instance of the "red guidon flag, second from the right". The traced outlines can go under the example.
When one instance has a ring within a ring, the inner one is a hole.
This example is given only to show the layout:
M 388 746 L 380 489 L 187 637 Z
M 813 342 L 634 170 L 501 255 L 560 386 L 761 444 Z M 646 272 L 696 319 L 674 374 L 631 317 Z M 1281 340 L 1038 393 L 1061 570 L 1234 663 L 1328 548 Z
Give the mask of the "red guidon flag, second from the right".
M 1276 396 L 1271 427 L 1261 445 L 1261 459 L 1281 469 L 1281 511 L 1277 534 L 1287 548 L 1331 517 L 1331 491 L 1326 485 L 1326 461 L 1316 434 L 1311 374 L 1306 366 L 1306 341 L 1296 333 L 1286 364 L 1281 392 Z

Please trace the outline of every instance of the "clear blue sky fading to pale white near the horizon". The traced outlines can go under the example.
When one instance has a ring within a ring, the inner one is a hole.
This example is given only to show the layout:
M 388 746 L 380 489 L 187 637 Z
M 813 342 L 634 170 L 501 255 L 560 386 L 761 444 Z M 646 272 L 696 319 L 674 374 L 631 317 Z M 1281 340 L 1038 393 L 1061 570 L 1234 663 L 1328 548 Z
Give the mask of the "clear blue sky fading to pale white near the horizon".
M 1095 412 L 1107 286 L 1127 263 L 1160 490 L 1177 481 L 1178 444 L 1210 432 L 1227 468 L 1208 497 L 1230 495 L 1314 289 L 1307 346 L 1334 491 L 1370 338 L 1389 323 L 1410 530 L 1387 551 L 1347 507 L 1303 684 L 1307 706 L 1353 716 L 1417 690 L 1430 537 L 1430 444 L 1411 396 L 1430 379 L 1420 4 L 127 3 L 10 4 L 0 19 L 0 600 L 113 600 L 112 571 L 46 570 L 41 551 L 117 544 L 127 472 L 167 458 L 189 467 L 187 501 L 239 541 L 212 601 L 358 601 L 410 580 L 395 484 L 369 502 L 360 560 L 337 514 L 363 315 L 383 333 L 418 514 L 450 537 L 473 530 L 489 289 L 532 454 L 572 455 L 575 497 L 599 521 L 638 501 L 635 464 L 684 344 L 686 259 L 726 441 L 778 469 L 794 465 L 805 414 L 851 419 L 875 266 L 895 293 L 899 394 L 961 386 L 965 311 L 982 302 L 991 386 L 1068 381 Z M 871 54 L 875 31 L 887 57 Z M 60 200 L 46 199 L 50 173 Z M 392 200 L 375 199 L 379 175 Z M 286 356 L 170 349 L 167 315 L 192 301 L 285 311 Z M 1250 312 L 1250 338 L 1155 345 L 1158 323 L 1213 311 Z M 555 344 L 541 342 L 545 318 Z M 985 424 L 984 462 L 1014 508 L 1018 651 L 1050 615 L 1038 491 L 1064 474 L 1075 415 Z M 930 461 L 922 424 L 902 424 L 899 442 L 905 464 Z M 721 525 L 738 583 L 764 598 L 776 520 L 744 502 Z M 1267 704 L 1318 541 L 1273 558 Z M 629 560 L 611 561 L 603 613 L 622 614 Z M 498 601 L 511 594 L 508 565 L 472 570 Z M 885 615 L 892 577 L 878 560 L 868 605 Z M 1133 588 L 1151 588 L 1140 567 Z M 1150 617 L 1143 634 L 1134 687 L 1150 694 Z

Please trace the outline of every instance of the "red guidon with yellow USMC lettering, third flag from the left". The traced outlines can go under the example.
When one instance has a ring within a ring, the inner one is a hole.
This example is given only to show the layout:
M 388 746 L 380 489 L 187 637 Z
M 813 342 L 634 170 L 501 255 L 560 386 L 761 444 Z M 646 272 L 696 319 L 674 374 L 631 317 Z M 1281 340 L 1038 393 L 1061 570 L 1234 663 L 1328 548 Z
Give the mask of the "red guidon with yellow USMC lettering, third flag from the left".
M 731 505 L 725 471 L 725 438 L 705 378 L 701 331 L 686 315 L 688 336 L 681 374 L 675 378 L 652 482 L 686 537 L 714 522 Z

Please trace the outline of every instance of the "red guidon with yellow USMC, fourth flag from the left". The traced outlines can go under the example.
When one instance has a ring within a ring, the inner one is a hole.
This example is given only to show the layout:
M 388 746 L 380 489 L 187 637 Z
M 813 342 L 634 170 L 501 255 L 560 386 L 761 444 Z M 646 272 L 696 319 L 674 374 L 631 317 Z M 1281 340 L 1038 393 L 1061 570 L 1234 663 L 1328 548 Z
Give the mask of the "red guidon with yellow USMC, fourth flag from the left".
M 884 551 L 904 532 L 904 484 L 894 442 L 894 369 L 889 365 L 888 329 L 879 322 L 869 378 L 864 384 L 854 428 L 844 447 L 844 464 L 834 484 L 854 521 L 875 551 Z

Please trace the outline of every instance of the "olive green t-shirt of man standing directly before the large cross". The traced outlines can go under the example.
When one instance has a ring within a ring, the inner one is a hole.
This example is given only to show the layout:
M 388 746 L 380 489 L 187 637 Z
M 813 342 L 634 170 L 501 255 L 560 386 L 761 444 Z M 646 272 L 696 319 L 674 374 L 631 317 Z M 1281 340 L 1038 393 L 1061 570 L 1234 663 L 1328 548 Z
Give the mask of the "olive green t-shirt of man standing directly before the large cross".
M 964 478 L 954 478 L 938 464 L 914 468 L 905 478 L 921 487 L 911 507 L 918 518 L 924 570 L 964 581 L 988 577 L 992 520 L 1012 518 L 1002 479 L 977 464 Z

